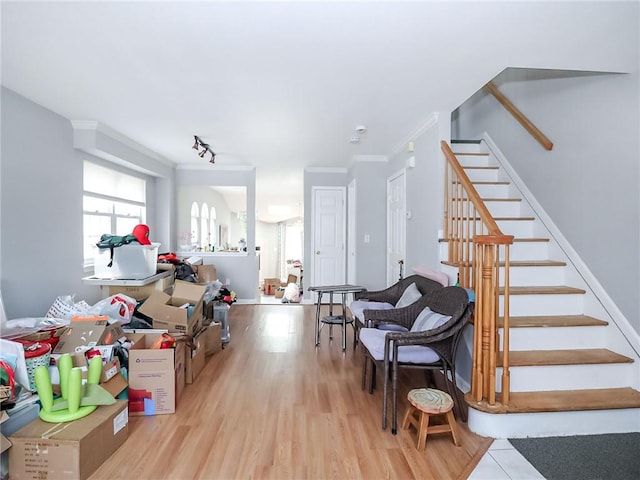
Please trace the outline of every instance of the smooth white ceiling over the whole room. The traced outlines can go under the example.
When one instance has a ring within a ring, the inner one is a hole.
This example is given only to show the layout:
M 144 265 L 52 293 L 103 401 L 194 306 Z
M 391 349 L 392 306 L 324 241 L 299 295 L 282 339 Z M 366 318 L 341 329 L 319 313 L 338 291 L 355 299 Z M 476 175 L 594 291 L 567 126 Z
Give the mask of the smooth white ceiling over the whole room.
M 253 165 L 259 218 L 277 220 L 263 207 L 297 214 L 305 167 L 402 151 L 506 67 L 616 71 L 583 48 L 619 20 L 607 5 L 3 1 L 2 84 L 175 164 Z

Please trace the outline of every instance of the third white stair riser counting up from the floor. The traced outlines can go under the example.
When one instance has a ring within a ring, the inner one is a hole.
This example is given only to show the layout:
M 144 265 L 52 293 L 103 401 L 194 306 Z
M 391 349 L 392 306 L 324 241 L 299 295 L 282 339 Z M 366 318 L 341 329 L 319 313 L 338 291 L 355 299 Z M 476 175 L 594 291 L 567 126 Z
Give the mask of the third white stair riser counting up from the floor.
M 502 329 L 500 329 L 502 348 Z M 605 327 L 510 328 L 510 350 L 605 348 Z

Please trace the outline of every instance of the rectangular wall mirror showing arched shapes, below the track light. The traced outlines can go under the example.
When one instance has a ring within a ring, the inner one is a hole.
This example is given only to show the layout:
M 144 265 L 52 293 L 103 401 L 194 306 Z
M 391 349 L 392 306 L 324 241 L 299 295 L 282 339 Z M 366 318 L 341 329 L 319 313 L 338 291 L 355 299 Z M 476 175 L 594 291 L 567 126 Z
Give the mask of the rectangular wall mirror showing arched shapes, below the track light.
M 180 251 L 246 251 L 247 187 L 180 186 L 177 217 Z

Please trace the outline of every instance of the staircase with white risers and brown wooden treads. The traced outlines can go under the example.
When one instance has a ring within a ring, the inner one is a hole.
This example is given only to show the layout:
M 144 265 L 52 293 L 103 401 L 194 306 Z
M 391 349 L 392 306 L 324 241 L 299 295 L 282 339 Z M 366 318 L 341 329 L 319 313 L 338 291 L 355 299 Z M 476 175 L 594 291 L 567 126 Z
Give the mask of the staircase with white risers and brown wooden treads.
M 586 267 L 490 138 L 452 142 L 451 149 L 502 232 L 515 236 L 511 397 L 508 405 L 488 405 L 468 395 L 469 428 L 494 438 L 640 431 L 637 332 L 597 282 L 585 280 L 591 279 Z M 458 266 L 443 264 L 455 278 Z M 498 368 L 498 391 L 501 373 Z

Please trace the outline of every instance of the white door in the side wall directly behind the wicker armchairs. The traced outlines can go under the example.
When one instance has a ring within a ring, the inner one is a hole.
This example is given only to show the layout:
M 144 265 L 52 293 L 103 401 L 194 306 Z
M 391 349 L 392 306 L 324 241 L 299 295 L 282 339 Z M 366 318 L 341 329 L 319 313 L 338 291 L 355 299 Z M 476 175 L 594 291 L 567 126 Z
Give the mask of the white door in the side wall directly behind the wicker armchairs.
M 387 180 L 387 285 L 400 278 L 407 237 L 406 176 L 404 169 Z M 404 267 L 403 267 L 404 271 Z

